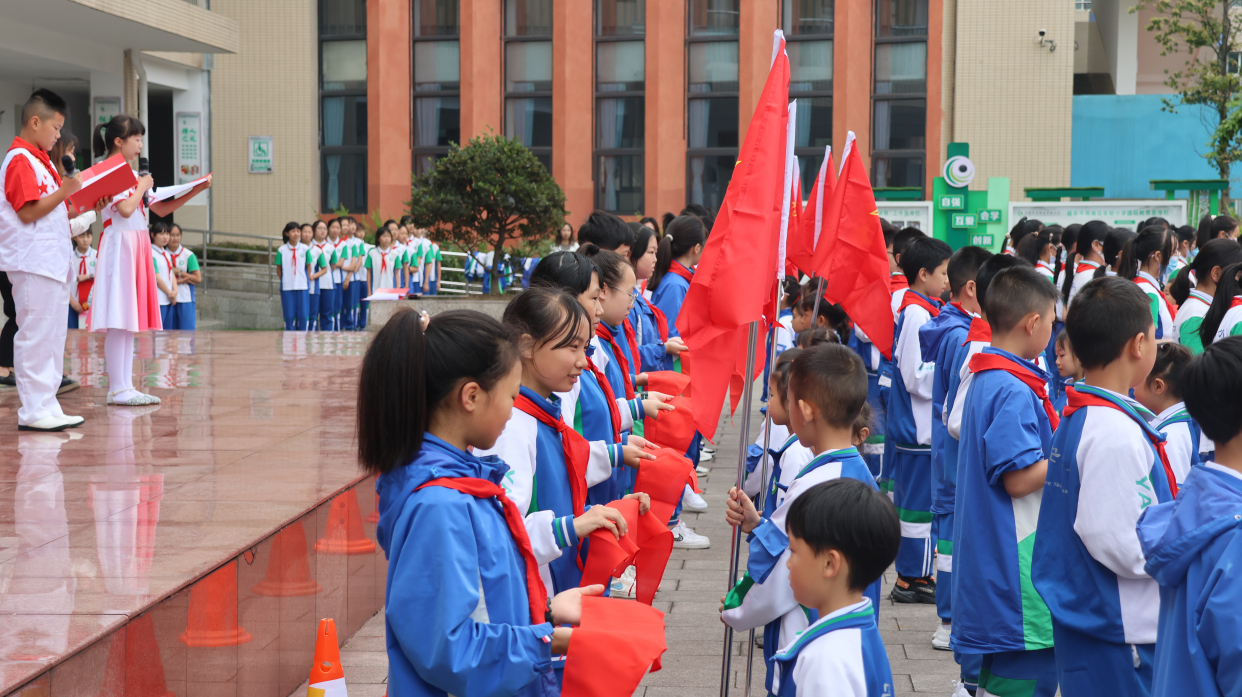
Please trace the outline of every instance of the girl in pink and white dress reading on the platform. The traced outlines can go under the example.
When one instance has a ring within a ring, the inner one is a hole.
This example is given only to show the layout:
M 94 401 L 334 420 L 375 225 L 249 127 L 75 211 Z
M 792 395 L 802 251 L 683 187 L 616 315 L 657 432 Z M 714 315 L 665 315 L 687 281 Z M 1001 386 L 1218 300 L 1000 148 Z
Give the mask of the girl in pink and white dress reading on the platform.
M 147 129 L 137 118 L 120 114 L 94 129 L 96 158 L 117 153 L 127 162 L 135 162 L 143 152 Z M 94 302 L 91 306 L 91 330 L 107 332 L 103 343 L 108 369 L 108 404 L 139 406 L 159 404 L 159 398 L 134 389 L 134 334 L 160 329 L 155 267 L 148 235 L 147 211 L 143 201 L 154 186 L 150 175 L 139 176 L 138 184 L 112 199 L 103 209 L 103 232 L 99 235 L 99 261 L 96 267 Z M 166 216 L 185 201 L 211 186 L 211 178 L 188 194 L 158 201 L 149 210 Z

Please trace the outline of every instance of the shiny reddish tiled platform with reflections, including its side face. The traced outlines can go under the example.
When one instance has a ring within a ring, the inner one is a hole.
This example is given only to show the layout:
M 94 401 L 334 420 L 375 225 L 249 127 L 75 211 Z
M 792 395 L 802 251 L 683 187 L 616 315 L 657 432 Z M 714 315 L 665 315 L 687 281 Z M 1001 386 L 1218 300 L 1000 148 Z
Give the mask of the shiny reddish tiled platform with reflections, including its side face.
M 19 434 L 0 393 L 0 693 L 37 677 L 43 695 L 154 695 L 135 681 L 159 673 L 176 695 L 283 697 L 318 617 L 343 637 L 371 617 L 385 563 L 353 444 L 368 338 L 140 335 L 135 378 L 164 401 L 132 409 L 104 406 L 103 337 L 71 330 L 83 389 L 61 401 L 81 429 Z

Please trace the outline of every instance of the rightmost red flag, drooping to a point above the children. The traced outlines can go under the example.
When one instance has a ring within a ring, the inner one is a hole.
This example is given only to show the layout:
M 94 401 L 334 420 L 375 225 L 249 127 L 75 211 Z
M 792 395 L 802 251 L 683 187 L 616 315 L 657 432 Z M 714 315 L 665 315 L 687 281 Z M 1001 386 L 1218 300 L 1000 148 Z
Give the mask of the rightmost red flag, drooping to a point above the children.
M 823 234 L 815 248 L 815 270 L 827 278 L 825 297 L 841 303 L 872 344 L 892 358 L 893 307 L 888 252 L 879 227 L 876 194 L 854 147 L 846 139 L 841 176 L 823 216 Z

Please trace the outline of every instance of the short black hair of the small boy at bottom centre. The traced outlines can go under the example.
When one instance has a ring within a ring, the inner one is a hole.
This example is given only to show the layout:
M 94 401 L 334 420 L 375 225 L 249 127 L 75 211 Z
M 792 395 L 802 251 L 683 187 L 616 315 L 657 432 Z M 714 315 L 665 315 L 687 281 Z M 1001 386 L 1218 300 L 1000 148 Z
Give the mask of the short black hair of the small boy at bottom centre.
M 785 526 L 790 537 L 821 554 L 836 549 L 850 565 L 850 590 L 864 591 L 897 559 L 902 522 L 874 485 L 840 477 L 794 499 Z

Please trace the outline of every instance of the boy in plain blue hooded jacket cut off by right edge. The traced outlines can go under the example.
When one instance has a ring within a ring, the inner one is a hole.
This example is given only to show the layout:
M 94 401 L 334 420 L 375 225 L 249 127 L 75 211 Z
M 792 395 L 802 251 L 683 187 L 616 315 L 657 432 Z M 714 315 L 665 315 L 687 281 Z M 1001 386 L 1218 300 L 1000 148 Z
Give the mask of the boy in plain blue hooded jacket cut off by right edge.
M 1182 378 L 1186 410 L 1216 442 L 1177 499 L 1139 518 L 1160 584 L 1153 697 L 1242 695 L 1242 338 L 1207 347 Z

